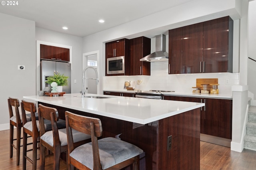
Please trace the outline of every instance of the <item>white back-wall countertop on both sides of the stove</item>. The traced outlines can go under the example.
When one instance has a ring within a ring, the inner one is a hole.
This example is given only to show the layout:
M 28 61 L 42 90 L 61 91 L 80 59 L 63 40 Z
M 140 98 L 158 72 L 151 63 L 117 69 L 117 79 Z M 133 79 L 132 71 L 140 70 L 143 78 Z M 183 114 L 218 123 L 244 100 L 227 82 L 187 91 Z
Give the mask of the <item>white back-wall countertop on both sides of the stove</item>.
M 112 92 L 119 92 L 119 93 L 135 93 L 134 90 L 103 90 L 103 91 L 112 91 Z M 183 92 L 162 92 L 163 95 L 170 95 L 170 96 L 187 96 L 187 97 L 204 97 L 204 98 L 215 98 L 215 99 L 233 99 L 232 94 L 202 94 L 202 93 L 183 93 Z

